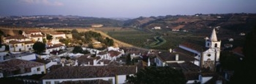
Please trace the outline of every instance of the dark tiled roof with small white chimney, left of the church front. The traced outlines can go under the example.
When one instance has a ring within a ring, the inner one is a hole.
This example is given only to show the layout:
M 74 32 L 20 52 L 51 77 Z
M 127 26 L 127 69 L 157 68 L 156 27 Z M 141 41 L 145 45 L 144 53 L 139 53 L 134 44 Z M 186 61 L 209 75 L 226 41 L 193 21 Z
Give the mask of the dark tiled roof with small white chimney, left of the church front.
M 191 57 L 189 55 L 183 54 L 183 53 L 179 53 L 179 52 L 162 52 L 158 54 L 158 57 L 162 60 L 162 61 L 176 61 L 176 54 L 179 55 L 179 59 L 178 61 L 185 61 L 185 62 L 190 62 L 190 61 L 195 61 L 197 59 L 195 59 L 194 57 Z

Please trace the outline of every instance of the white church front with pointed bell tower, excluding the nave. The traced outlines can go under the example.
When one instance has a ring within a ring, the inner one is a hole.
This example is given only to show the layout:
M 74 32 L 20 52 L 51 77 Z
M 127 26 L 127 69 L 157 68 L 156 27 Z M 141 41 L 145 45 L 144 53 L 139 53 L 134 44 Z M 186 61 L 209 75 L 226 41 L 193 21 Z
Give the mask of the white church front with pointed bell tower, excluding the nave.
M 221 51 L 221 41 L 218 41 L 215 29 L 212 30 L 210 38 L 206 39 L 205 47 L 208 49 L 202 54 L 202 67 L 215 71 L 216 66 L 219 65 Z

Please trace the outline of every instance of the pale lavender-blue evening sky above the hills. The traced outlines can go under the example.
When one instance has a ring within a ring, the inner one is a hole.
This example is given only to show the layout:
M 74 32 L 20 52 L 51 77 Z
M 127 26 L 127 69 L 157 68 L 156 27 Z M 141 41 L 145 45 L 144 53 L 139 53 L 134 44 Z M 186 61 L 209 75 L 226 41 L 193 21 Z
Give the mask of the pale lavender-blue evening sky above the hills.
M 0 15 L 130 17 L 256 13 L 255 0 L 1 0 Z

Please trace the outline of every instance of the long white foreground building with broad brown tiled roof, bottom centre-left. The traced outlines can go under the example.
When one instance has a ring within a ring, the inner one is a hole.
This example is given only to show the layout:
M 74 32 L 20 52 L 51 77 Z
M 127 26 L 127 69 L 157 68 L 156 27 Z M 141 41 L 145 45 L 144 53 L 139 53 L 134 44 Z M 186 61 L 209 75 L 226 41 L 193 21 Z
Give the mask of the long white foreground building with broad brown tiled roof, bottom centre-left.
M 95 79 L 110 80 L 114 84 L 125 83 L 126 75 L 136 72 L 136 66 L 65 66 L 47 73 L 41 79 L 43 84 Z

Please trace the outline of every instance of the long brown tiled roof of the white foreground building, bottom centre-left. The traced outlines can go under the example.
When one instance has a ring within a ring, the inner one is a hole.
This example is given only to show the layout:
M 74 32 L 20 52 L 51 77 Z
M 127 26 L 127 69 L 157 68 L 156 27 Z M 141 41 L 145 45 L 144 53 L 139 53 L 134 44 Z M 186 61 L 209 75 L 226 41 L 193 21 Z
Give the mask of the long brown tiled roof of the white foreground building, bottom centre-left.
M 135 73 L 136 66 L 65 66 L 51 71 L 41 79 L 113 77 Z

